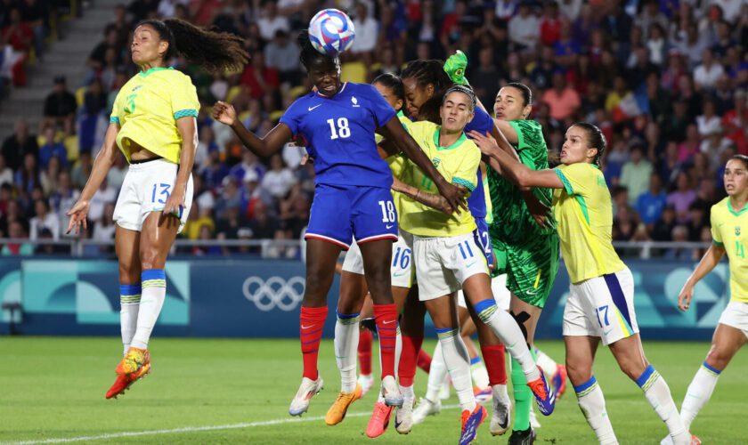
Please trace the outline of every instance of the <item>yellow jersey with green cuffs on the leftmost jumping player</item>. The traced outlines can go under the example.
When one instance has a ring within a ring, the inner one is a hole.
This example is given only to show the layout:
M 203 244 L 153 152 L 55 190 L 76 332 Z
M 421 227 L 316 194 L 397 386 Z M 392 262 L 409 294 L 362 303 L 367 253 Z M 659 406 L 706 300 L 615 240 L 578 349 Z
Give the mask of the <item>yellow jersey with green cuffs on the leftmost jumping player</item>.
M 200 102 L 190 77 L 173 68 L 140 72 L 119 90 L 110 123 L 119 125 L 117 145 L 130 162 L 137 143 L 169 162 L 179 164 L 182 136 L 176 120 L 197 117 Z

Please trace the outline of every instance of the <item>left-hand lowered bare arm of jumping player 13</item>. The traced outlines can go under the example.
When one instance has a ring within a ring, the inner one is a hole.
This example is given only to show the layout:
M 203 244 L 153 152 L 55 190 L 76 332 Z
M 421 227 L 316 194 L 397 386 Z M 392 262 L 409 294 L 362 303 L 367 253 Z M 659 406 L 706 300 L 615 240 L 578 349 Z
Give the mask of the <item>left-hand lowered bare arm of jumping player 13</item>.
M 104 178 L 107 177 L 107 174 L 118 155 L 118 133 L 119 124 L 110 124 L 107 128 L 107 133 L 104 135 L 102 150 L 99 150 L 99 154 L 93 160 L 91 175 L 88 176 L 88 181 L 85 182 L 85 187 L 83 188 L 83 191 L 80 192 L 80 198 L 78 198 L 76 204 L 72 206 L 67 213 L 70 217 L 70 221 L 68 223 L 68 230 L 65 233 L 70 233 L 70 231 L 75 229 L 75 233 L 77 234 L 80 231 L 81 224 L 83 224 L 84 229 L 88 227 L 85 222 L 85 217 L 88 215 L 91 198 L 93 198 L 96 190 L 99 190 L 99 187 L 102 186 Z

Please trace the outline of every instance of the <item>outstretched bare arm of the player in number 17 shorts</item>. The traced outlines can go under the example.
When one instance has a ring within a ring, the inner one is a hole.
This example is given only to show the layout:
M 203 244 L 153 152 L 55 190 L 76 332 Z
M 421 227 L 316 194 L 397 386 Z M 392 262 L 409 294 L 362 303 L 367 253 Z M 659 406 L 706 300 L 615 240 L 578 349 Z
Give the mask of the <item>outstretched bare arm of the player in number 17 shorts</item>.
M 525 166 L 506 151 L 500 150 L 498 143 L 491 135 L 470 132 L 468 136 L 473 139 L 473 142 L 476 142 L 485 156 L 494 159 L 496 164 L 499 164 L 500 170 L 497 171 L 516 185 L 520 187 L 545 187 L 547 189 L 564 188 L 564 183 L 561 182 L 561 179 L 553 170 L 536 171 Z M 490 162 L 489 165 L 493 166 L 494 163 Z

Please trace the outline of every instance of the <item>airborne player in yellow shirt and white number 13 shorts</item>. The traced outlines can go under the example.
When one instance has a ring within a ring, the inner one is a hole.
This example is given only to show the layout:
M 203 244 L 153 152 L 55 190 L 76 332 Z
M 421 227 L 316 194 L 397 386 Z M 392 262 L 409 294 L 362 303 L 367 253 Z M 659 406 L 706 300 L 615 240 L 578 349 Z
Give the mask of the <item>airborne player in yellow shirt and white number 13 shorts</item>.
M 211 71 L 238 69 L 247 61 L 241 44 L 239 37 L 182 20 L 145 20 L 135 28 L 130 50 L 140 72 L 119 91 L 102 150 L 68 212 L 68 232 L 86 227 L 89 202 L 119 148 L 130 164 L 114 210 L 125 357 L 107 399 L 150 372 L 148 341 L 167 294 L 164 267 L 192 203 L 200 104 L 190 77 L 168 68 L 167 61 L 181 55 Z

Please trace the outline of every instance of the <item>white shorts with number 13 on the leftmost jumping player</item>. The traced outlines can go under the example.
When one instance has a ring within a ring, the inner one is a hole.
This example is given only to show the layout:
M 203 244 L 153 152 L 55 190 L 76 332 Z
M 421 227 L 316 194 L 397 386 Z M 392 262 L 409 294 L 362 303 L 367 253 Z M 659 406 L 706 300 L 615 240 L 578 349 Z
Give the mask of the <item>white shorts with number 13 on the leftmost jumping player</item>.
M 166 159 L 156 159 L 141 164 L 131 164 L 122 188 L 119 190 L 117 206 L 114 207 L 114 222 L 130 231 L 141 231 L 142 223 L 150 212 L 164 209 L 167 198 L 174 188 L 179 166 Z M 184 208 L 179 214 L 179 231 L 182 231 L 192 206 L 192 175 L 187 181 Z

